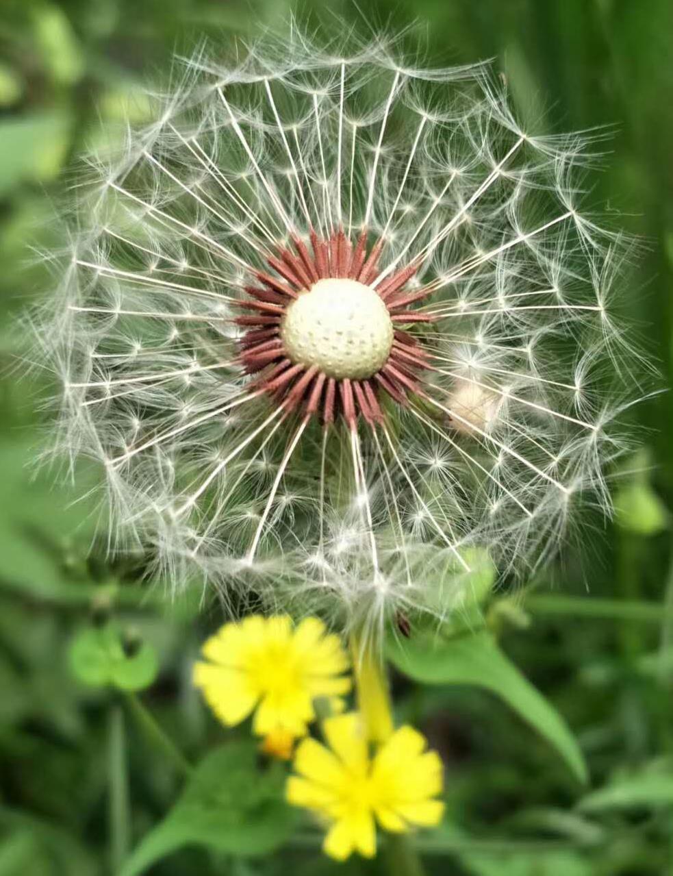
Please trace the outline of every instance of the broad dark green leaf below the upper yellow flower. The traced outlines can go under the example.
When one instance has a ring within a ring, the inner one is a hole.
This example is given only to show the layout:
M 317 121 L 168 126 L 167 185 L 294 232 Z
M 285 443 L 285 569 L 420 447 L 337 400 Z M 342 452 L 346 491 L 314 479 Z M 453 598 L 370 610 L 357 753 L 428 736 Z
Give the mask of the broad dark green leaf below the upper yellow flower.
M 119 876 L 139 876 L 186 845 L 253 857 L 284 844 L 295 823 L 284 802 L 284 767 L 256 767 L 254 742 L 233 742 L 196 767 L 184 794 L 165 820 L 144 837 Z

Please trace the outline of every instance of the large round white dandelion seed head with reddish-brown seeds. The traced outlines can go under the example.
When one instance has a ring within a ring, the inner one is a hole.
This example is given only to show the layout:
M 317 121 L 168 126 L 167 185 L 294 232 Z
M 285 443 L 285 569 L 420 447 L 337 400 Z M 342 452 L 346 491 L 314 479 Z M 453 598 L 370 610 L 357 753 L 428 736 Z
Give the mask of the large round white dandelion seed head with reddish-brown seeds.
M 116 536 L 175 587 L 372 622 L 446 569 L 459 604 L 472 548 L 549 555 L 620 449 L 591 142 L 522 131 L 487 67 L 382 41 L 190 61 L 156 124 L 90 159 L 42 328 L 60 449 L 104 463 Z

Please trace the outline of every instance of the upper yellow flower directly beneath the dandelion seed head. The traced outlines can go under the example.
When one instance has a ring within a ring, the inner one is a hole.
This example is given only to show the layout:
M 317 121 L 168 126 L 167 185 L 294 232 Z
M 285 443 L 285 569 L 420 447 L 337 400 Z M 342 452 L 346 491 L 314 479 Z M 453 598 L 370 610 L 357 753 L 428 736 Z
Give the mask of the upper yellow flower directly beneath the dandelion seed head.
M 252 712 L 258 736 L 304 736 L 314 720 L 314 700 L 350 690 L 347 655 L 338 636 L 318 618 L 297 626 L 291 618 L 260 615 L 226 624 L 203 646 L 194 683 L 224 724 Z

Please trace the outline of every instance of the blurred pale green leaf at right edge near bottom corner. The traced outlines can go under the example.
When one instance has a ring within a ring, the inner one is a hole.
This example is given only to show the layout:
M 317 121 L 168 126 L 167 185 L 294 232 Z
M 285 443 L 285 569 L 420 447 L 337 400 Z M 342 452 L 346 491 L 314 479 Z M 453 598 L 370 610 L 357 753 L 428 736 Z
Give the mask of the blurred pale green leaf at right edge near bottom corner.
M 673 807 L 673 765 L 648 765 L 639 773 L 616 779 L 587 794 L 578 803 L 584 812 L 612 809 L 666 809 Z

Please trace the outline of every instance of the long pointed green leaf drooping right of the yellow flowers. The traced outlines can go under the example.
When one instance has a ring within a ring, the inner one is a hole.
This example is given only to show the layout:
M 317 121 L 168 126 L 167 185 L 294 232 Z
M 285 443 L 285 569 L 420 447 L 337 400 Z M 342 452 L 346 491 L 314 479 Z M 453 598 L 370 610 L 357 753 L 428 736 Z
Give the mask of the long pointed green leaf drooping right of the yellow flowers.
M 475 685 L 500 696 L 563 757 L 585 783 L 584 756 L 564 718 L 509 661 L 489 632 L 438 640 L 430 635 L 389 640 L 389 660 L 404 675 L 424 684 Z

